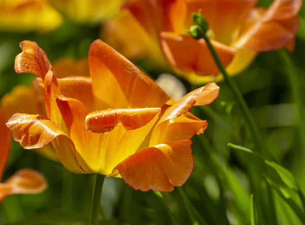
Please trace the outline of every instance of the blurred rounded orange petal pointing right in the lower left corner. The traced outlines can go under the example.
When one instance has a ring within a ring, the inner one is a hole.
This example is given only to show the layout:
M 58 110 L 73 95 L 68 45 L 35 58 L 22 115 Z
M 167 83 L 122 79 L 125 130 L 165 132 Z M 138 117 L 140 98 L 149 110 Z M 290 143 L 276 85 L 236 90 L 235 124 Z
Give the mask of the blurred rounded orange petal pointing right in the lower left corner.
M 40 173 L 31 169 L 16 172 L 5 183 L 0 183 L 0 203 L 12 194 L 38 194 L 48 187 L 48 182 Z

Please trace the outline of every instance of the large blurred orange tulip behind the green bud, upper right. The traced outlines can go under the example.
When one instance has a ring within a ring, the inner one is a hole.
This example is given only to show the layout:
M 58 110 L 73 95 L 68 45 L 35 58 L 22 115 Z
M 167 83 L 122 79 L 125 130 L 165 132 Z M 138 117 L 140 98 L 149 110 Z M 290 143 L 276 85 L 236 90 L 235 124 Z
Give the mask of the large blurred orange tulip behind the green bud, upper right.
M 139 52 L 133 49 L 143 45 L 142 55 L 153 54 L 147 48 L 156 48 L 161 42 L 173 70 L 192 83 L 222 78 L 222 75 L 216 77 L 219 69 L 205 41 L 194 40 L 187 33 L 193 25 L 192 13 L 201 9 L 210 25 L 207 34 L 211 44 L 228 73 L 234 75 L 246 69 L 259 52 L 284 46 L 294 49 L 299 27 L 297 13 L 302 3 L 301 0 L 275 0 L 268 9 L 263 9 L 256 7 L 257 0 L 152 1 L 155 5 L 159 3 L 159 7 L 148 7 L 144 2 L 132 2 L 126 6 L 122 18 L 110 20 L 108 30 L 106 25 L 106 38 L 118 41 L 117 49 L 132 59 L 139 57 L 130 54 Z M 154 36 L 156 33 L 158 38 Z

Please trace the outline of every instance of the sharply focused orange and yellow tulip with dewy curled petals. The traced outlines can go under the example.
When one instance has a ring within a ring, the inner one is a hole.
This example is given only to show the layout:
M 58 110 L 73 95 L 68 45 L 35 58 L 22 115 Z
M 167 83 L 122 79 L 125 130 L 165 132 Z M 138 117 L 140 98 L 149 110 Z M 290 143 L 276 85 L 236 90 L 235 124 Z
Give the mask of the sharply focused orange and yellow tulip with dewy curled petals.
M 142 191 L 172 191 L 187 181 L 194 164 L 190 138 L 207 126 L 188 111 L 217 98 L 215 83 L 170 106 L 153 80 L 101 40 L 89 49 L 91 77 L 57 78 L 35 42 L 20 46 L 15 70 L 40 77 L 47 111 L 47 117 L 15 114 L 7 123 L 23 148 L 52 142 L 68 170 L 120 177 Z

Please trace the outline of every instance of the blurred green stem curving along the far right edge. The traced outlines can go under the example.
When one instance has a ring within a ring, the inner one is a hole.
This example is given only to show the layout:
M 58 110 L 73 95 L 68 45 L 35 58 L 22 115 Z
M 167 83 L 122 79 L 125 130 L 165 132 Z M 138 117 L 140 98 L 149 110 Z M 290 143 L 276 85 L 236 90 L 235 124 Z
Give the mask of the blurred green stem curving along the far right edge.
M 292 98 L 294 101 L 294 107 L 296 111 L 296 124 L 298 132 L 299 132 L 299 141 L 301 146 L 301 153 L 305 153 L 305 114 L 304 114 L 304 106 L 301 99 L 301 91 L 300 91 L 300 82 L 297 77 L 297 73 L 295 70 L 295 66 L 289 57 L 289 54 L 286 50 L 282 49 L 280 52 L 280 56 L 282 61 L 285 63 L 286 73 L 288 75 L 288 79 L 290 82 L 290 87 L 292 91 Z

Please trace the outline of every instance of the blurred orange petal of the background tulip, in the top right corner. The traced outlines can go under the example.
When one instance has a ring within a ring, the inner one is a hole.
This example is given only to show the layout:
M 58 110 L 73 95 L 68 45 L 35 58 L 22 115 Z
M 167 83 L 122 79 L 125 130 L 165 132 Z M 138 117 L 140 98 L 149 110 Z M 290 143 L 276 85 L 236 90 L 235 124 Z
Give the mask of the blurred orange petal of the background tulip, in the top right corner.
M 255 51 L 270 51 L 284 47 L 298 31 L 297 12 L 300 10 L 301 2 L 276 0 L 232 46 Z

